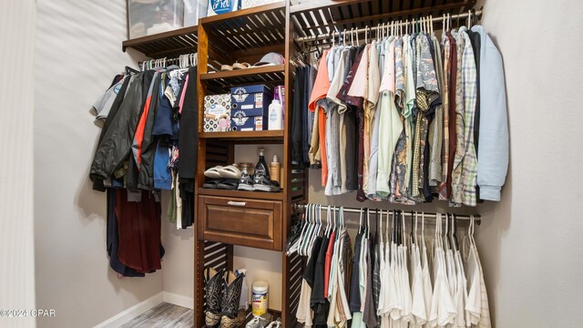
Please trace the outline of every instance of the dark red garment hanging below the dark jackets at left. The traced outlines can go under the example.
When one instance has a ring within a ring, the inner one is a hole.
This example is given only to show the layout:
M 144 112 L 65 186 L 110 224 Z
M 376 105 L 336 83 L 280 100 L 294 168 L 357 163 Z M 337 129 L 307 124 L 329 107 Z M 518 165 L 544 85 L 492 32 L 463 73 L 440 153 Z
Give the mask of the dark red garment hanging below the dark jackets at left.
M 118 217 L 121 263 L 138 272 L 162 269 L 160 253 L 160 203 L 146 190 L 140 202 L 128 201 L 128 191 L 118 190 Z

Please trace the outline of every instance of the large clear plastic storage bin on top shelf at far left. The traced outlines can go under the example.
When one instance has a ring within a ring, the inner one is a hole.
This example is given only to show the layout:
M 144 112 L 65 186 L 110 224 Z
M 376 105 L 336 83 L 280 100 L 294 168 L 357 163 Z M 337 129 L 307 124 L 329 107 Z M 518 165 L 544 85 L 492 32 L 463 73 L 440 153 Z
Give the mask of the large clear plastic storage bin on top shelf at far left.
M 136 38 L 183 26 L 184 0 L 127 0 L 128 36 Z

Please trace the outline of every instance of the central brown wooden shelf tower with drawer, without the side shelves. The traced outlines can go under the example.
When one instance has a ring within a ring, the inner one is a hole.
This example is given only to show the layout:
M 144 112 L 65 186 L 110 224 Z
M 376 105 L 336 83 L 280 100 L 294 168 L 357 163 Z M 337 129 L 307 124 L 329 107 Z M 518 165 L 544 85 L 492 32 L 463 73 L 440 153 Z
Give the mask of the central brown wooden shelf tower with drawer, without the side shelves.
M 199 20 L 199 71 L 197 90 L 199 97 L 199 121 L 203 117 L 204 96 L 218 91 L 229 92 L 230 87 L 262 84 L 268 87 L 284 85 L 286 91 L 292 87 L 292 74 L 289 61 L 291 35 L 289 3 L 281 1 L 271 5 L 261 5 L 238 12 L 206 17 Z M 253 65 L 269 52 L 285 56 L 286 64 L 278 66 L 251 67 L 227 72 L 209 72 L 208 64 L 213 67 L 232 65 L 235 61 Z M 292 197 L 294 201 L 305 200 L 303 181 L 304 170 L 292 173 L 291 161 L 291 118 L 292 97 L 285 92 L 286 108 L 283 130 L 203 132 L 199 126 L 199 163 L 197 168 L 197 233 L 195 248 L 197 259 L 204 258 L 204 243 L 220 241 L 232 245 L 243 245 L 271 251 L 280 251 L 281 268 L 281 320 L 284 327 L 296 325 L 292 315 L 293 300 L 297 301 L 299 292 L 292 291 L 292 284 L 300 286 L 299 277 L 302 265 L 299 257 L 288 257 L 284 252 L 285 238 L 291 227 Z M 216 146 L 228 149 L 221 158 L 215 153 Z M 281 144 L 283 173 L 281 192 L 254 192 L 239 190 L 206 190 L 201 188 L 204 171 L 209 165 L 234 162 L 234 147 L 241 144 Z M 213 163 L 209 159 L 213 159 Z M 292 184 L 293 179 L 293 184 Z M 302 180 L 301 183 L 297 182 Z M 298 188 L 301 186 L 301 188 Z M 292 188 L 294 190 L 292 191 Z M 292 262 L 293 261 L 293 262 Z M 293 265 L 292 265 L 293 264 Z M 195 264 L 195 326 L 204 324 L 204 290 L 202 271 L 206 264 L 197 260 Z M 291 272 L 290 268 L 297 272 Z M 232 269 L 232 268 L 230 268 Z M 251 269 L 251 268 L 248 268 Z M 251 269 L 252 270 L 252 269 Z M 292 277 L 293 273 L 293 277 Z M 291 296 L 293 296 L 291 298 Z M 293 301 L 295 302 L 295 301 Z

